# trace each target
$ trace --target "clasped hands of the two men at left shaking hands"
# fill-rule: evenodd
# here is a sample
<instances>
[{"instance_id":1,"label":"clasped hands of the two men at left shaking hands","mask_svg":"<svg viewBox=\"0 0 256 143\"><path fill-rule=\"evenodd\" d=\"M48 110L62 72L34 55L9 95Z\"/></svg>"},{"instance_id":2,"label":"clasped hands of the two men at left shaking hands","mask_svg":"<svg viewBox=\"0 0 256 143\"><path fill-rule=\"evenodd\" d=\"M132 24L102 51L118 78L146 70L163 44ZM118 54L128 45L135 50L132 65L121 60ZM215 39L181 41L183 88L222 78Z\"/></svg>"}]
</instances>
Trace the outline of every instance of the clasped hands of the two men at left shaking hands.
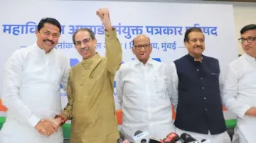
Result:
<instances>
[{"instance_id":1,"label":"clasped hands of the two men at left shaking hands","mask_svg":"<svg viewBox=\"0 0 256 143\"><path fill-rule=\"evenodd\" d=\"M50 136L58 131L58 127L62 125L63 122L65 122L65 120L60 117L55 119L43 119L38 122L35 128L41 135Z\"/></svg>"}]
</instances>

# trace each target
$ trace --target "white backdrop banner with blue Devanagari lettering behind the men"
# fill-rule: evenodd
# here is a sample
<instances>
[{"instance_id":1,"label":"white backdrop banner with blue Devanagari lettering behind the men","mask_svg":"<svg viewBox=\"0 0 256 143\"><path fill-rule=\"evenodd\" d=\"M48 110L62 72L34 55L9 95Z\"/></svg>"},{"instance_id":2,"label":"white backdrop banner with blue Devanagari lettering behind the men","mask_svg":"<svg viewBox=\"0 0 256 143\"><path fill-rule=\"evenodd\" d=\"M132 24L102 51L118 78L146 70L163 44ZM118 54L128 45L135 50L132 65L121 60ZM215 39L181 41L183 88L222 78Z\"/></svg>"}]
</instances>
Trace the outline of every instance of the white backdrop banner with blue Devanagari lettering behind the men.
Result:
<instances>
[{"instance_id":1,"label":"white backdrop banner with blue Devanagari lettering behind the men","mask_svg":"<svg viewBox=\"0 0 256 143\"><path fill-rule=\"evenodd\" d=\"M98 41L97 52L105 56L104 27L95 14L95 11L102 7L110 8L112 25L117 28L117 36L122 43L123 62L134 58L131 50L132 39L136 35L145 34L151 38L154 48L151 57L159 62L170 64L188 53L183 45L183 37L186 28L193 26L202 28L206 36L204 55L219 59L222 71L229 62L238 57L232 5L114 1L34 1L29 3L5 1L0 6L1 79L2 69L11 53L36 42L36 25L41 18L45 17L60 21L63 33L55 49L60 50L70 59L72 67L81 59L72 43L72 35L78 28L92 28L95 31ZM0 87L2 84L4 83L1 83ZM67 103L65 91L62 90L60 96L64 107ZM117 93L113 96L116 109L119 110ZM0 111L0 116L4 116L6 108L0 105ZM224 112L226 120L234 118L232 113ZM119 123L122 124L122 122Z\"/></svg>"}]
</instances>

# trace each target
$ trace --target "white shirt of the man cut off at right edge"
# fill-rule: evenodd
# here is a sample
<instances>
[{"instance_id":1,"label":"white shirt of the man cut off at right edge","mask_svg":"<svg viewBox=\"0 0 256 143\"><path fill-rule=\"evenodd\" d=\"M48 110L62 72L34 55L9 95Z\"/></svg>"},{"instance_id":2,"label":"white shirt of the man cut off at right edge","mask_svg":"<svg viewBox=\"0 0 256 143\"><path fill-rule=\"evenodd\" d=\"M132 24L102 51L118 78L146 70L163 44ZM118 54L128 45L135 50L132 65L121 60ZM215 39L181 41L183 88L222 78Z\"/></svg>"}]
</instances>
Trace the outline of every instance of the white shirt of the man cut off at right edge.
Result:
<instances>
[{"instance_id":1,"label":"white shirt of the man cut off at right edge","mask_svg":"<svg viewBox=\"0 0 256 143\"><path fill-rule=\"evenodd\" d=\"M256 60L242 55L228 66L223 81L223 104L237 115L237 127L247 142L256 142L256 118L245 115L256 107Z\"/></svg>"}]
</instances>

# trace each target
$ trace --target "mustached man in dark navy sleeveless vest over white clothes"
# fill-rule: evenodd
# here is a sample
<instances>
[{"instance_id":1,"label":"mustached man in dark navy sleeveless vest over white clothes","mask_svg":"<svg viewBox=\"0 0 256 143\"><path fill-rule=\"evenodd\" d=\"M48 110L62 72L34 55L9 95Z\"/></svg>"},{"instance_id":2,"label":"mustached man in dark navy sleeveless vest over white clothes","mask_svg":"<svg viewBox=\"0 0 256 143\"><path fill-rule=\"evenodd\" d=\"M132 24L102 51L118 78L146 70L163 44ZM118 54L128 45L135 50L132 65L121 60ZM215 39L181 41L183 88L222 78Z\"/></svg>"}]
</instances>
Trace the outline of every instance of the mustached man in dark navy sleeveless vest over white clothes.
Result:
<instances>
[{"instance_id":1,"label":"mustached man in dark navy sleeveless vest over white clothes","mask_svg":"<svg viewBox=\"0 0 256 143\"><path fill-rule=\"evenodd\" d=\"M213 143L230 143L225 131L220 98L218 59L203 55L205 36L201 28L186 30L184 44L188 55L174 61L174 93L178 94L176 133Z\"/></svg>"}]
</instances>

